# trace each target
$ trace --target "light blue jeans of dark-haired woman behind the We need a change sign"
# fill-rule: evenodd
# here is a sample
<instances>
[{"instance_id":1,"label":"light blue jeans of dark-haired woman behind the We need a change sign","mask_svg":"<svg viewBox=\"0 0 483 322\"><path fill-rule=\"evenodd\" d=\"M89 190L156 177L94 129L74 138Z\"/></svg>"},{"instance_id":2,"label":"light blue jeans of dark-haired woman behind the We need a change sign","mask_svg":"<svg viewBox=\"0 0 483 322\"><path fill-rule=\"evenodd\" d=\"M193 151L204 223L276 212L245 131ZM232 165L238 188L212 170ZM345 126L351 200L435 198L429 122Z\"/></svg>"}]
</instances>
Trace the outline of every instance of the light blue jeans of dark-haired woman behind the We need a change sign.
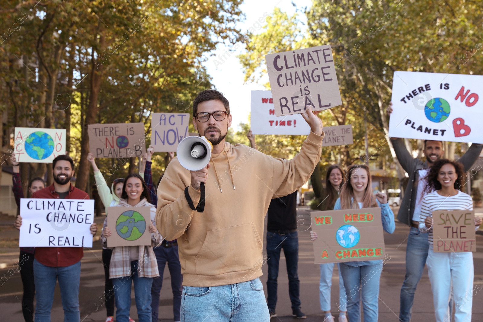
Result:
<instances>
[{"instance_id":1,"label":"light blue jeans of dark-haired woman behind the We need a change sign","mask_svg":"<svg viewBox=\"0 0 483 322\"><path fill-rule=\"evenodd\" d=\"M319 300L322 311L330 311L330 289L332 287L332 272L335 263L320 264ZM345 294L344 280L341 274L341 264L339 268L339 311L347 311L347 296Z\"/></svg>"}]
</instances>

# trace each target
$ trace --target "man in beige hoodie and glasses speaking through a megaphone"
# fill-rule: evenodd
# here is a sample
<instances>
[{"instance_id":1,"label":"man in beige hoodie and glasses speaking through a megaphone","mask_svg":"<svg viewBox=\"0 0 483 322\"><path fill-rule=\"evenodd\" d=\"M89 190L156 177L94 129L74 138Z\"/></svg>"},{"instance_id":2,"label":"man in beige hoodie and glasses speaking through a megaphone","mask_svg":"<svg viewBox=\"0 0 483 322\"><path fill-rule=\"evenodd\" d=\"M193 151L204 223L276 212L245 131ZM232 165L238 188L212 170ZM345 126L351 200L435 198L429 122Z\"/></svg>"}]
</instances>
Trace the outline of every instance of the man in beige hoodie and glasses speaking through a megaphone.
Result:
<instances>
[{"instance_id":1,"label":"man in beige hoodie and glasses speaking through a megaphone","mask_svg":"<svg viewBox=\"0 0 483 322\"><path fill-rule=\"evenodd\" d=\"M225 142L231 114L222 93L209 89L195 98L193 125L213 150L210 154L211 146L202 138L185 139L187 148L178 148L157 190L156 227L167 240L178 239L181 321L270 320L259 279L266 260L264 217L272 198L309 180L324 139L316 112L308 108L302 116L311 133L300 153L291 160L276 159ZM204 150L206 155L197 159ZM292 310L298 316L300 308Z\"/></svg>"}]
</instances>

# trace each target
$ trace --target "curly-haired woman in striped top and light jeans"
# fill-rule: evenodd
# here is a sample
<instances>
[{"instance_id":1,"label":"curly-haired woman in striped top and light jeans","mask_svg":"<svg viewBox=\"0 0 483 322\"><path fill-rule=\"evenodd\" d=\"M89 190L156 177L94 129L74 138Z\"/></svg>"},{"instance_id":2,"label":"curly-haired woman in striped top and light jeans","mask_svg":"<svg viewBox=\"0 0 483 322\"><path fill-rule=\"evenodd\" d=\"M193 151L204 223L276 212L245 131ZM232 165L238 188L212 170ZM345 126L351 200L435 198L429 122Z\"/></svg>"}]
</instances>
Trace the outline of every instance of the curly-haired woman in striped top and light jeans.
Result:
<instances>
[{"instance_id":1,"label":"curly-haired woman in striped top and light jeans","mask_svg":"<svg viewBox=\"0 0 483 322\"><path fill-rule=\"evenodd\" d=\"M473 295L473 253L433 252L434 210L473 210L471 196L460 191L463 166L456 161L437 161L426 176L426 196L423 198L419 230L427 232L429 250L426 260L437 322L450 321L451 285L455 299L455 322L471 321ZM475 229L482 223L475 218Z\"/></svg>"}]
</instances>

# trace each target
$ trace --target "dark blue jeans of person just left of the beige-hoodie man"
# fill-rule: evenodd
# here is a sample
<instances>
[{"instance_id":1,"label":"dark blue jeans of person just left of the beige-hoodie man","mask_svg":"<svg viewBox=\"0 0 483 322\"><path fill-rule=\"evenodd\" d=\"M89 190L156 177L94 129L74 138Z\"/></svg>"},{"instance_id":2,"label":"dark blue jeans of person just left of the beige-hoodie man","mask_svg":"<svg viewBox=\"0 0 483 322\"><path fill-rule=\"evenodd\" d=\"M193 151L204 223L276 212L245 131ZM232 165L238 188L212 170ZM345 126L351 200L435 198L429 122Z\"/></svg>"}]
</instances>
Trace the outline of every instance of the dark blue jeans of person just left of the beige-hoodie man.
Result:
<instances>
[{"instance_id":1,"label":"dark blue jeans of person just left of the beige-hoodie man","mask_svg":"<svg viewBox=\"0 0 483 322\"><path fill-rule=\"evenodd\" d=\"M164 246L153 247L156 255L157 268L159 270L159 278L153 280L151 286L151 311L153 313L153 321L157 321L159 313L159 293L163 287L163 273L166 262L171 275L171 289L173 291L173 315L174 321L180 321L181 294L183 293L183 275L181 274L181 264L178 254L178 246L166 248Z\"/></svg>"}]
</instances>

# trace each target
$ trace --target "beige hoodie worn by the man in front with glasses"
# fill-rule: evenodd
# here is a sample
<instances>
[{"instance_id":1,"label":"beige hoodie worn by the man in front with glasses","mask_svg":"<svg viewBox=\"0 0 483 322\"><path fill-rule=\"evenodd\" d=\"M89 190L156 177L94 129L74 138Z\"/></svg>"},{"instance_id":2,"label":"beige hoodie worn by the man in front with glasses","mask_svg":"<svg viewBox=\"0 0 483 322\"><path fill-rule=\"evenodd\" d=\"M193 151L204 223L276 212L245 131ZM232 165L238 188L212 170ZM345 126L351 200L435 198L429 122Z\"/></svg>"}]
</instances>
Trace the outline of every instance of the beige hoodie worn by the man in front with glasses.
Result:
<instances>
[{"instance_id":1,"label":"beige hoodie worn by the man in front with glasses","mask_svg":"<svg viewBox=\"0 0 483 322\"><path fill-rule=\"evenodd\" d=\"M225 142L221 154L212 154L204 212L191 210L186 201L188 186L195 207L200 198L190 171L177 157L170 162L157 189L156 227L166 240L178 238L183 285L227 285L262 275L263 221L270 200L309 180L323 139L324 134L311 132L292 160Z\"/></svg>"}]
</instances>

